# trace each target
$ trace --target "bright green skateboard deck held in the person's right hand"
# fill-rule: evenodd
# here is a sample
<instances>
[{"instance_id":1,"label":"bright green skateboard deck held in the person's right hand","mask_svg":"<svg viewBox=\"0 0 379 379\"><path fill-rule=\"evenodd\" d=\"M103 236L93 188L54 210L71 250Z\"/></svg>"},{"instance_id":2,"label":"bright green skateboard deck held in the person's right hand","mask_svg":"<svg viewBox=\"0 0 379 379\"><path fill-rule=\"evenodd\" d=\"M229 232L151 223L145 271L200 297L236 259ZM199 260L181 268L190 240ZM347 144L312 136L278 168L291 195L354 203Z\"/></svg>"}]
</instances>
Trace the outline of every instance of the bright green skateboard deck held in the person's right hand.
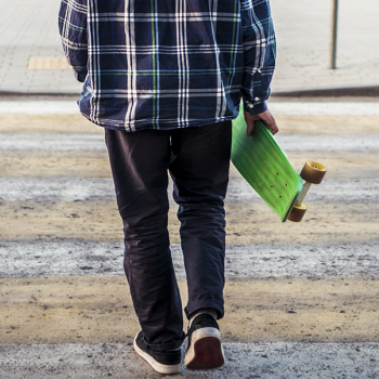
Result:
<instances>
[{"instance_id":1,"label":"bright green skateboard deck held in the person's right hand","mask_svg":"<svg viewBox=\"0 0 379 379\"><path fill-rule=\"evenodd\" d=\"M253 134L246 136L243 109L233 120L231 159L258 195L285 222L303 181L263 122L256 121Z\"/></svg>"}]
</instances>

